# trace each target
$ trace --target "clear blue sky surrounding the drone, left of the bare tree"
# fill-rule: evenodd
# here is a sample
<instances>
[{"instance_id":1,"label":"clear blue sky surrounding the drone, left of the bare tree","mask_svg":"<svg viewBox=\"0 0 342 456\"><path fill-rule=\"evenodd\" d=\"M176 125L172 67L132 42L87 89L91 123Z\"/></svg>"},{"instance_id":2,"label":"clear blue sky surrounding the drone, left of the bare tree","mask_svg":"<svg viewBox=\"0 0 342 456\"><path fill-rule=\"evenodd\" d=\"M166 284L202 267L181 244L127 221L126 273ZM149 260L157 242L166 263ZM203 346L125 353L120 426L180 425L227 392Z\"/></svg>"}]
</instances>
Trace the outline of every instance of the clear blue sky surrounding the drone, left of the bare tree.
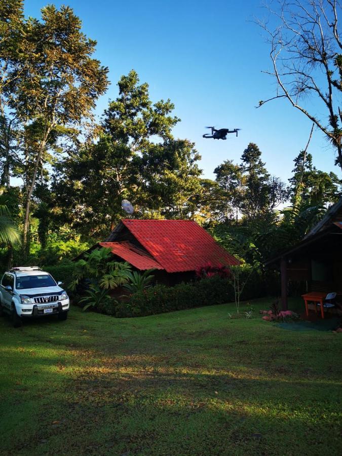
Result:
<instances>
[{"instance_id":1,"label":"clear blue sky surrounding the drone, left of the bare tree","mask_svg":"<svg viewBox=\"0 0 342 456\"><path fill-rule=\"evenodd\" d=\"M26 0L25 14L40 17L43 0ZM224 160L240 163L255 142L269 172L287 181L293 159L304 148L311 122L285 100L255 109L274 95L275 84L261 73L270 68L269 47L253 22L265 17L259 0L65 0L83 21L83 31L97 40L96 57L109 68L111 85L99 101L101 115L118 95L117 82L134 68L147 82L153 101L170 98L181 119L174 134L196 143L207 178ZM318 107L317 107L318 109ZM204 126L241 128L237 138L204 139ZM309 151L314 164L334 171L334 152L315 130Z\"/></svg>"}]
</instances>

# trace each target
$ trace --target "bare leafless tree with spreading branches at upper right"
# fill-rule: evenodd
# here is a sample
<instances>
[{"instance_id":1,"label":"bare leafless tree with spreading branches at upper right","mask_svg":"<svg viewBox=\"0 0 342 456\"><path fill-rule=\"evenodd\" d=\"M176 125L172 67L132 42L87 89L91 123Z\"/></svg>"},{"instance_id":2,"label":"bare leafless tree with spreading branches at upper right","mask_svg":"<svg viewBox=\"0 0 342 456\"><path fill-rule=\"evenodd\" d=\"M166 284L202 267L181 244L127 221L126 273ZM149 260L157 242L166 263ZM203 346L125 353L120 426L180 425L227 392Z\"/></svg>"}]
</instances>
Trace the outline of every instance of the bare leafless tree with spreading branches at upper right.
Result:
<instances>
[{"instance_id":1,"label":"bare leafless tree with spreading branches at upper right","mask_svg":"<svg viewBox=\"0 0 342 456\"><path fill-rule=\"evenodd\" d=\"M326 135L342 169L340 4L337 0L281 0L277 10L270 7L269 11L277 26L271 29L268 22L258 24L270 43L273 69L265 72L275 78L278 90L275 96L260 100L259 106L277 98L287 99ZM307 102L309 96L313 105ZM325 112L322 118L316 114L320 110Z\"/></svg>"}]
</instances>

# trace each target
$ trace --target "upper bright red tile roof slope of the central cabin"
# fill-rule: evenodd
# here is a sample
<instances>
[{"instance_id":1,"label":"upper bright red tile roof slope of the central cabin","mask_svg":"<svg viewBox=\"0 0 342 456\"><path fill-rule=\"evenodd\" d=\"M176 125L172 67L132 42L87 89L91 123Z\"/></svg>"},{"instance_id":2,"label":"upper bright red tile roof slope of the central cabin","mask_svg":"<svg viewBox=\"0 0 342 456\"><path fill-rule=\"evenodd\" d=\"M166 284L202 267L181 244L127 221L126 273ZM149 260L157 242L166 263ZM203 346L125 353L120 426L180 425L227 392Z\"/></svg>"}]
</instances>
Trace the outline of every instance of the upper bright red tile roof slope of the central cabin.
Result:
<instances>
[{"instance_id":1,"label":"upper bright red tile roof slope of the central cabin","mask_svg":"<svg viewBox=\"0 0 342 456\"><path fill-rule=\"evenodd\" d=\"M169 273L195 271L207 262L213 266L239 264L192 220L123 219L122 222Z\"/></svg>"}]
</instances>

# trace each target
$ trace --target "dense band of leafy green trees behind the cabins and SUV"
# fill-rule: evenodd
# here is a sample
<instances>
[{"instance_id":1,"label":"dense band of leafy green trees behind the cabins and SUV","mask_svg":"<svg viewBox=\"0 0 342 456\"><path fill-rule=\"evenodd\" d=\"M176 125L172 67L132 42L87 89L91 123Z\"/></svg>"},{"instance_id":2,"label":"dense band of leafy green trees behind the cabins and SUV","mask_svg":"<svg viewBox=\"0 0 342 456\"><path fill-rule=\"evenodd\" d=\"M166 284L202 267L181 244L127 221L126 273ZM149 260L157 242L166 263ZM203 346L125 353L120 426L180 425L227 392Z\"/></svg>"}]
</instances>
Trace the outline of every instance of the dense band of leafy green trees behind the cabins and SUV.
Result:
<instances>
[{"instance_id":1,"label":"dense band of leafy green trees behind the cabins and SUV","mask_svg":"<svg viewBox=\"0 0 342 456\"><path fill-rule=\"evenodd\" d=\"M135 70L95 122L108 86L95 50L67 6L47 6L34 19L22 0L0 5L2 269L67 264L107 236L129 199L137 218L196 220L264 274L265 259L301 239L340 198L341 180L316 169L308 146L292 151L288 184L269 173L253 142L240 163L213 165L215 179L202 178L195 144L173 136L173 103L151 100ZM105 280L110 288L114 279Z\"/></svg>"}]
</instances>

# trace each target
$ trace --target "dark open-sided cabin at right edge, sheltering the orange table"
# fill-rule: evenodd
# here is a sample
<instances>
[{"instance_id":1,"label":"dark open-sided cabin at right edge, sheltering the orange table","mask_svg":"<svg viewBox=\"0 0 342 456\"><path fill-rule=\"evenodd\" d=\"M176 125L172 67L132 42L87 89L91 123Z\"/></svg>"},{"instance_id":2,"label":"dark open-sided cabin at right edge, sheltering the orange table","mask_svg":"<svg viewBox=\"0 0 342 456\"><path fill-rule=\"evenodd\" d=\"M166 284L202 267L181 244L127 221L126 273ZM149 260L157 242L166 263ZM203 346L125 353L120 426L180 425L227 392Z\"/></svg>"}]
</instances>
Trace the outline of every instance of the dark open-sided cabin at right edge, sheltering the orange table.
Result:
<instances>
[{"instance_id":1,"label":"dark open-sided cabin at right edge, sheltering the orange table","mask_svg":"<svg viewBox=\"0 0 342 456\"><path fill-rule=\"evenodd\" d=\"M321 291L342 293L342 198L295 246L268 260L280 268L283 309L287 309L288 285L298 294Z\"/></svg>"}]
</instances>

